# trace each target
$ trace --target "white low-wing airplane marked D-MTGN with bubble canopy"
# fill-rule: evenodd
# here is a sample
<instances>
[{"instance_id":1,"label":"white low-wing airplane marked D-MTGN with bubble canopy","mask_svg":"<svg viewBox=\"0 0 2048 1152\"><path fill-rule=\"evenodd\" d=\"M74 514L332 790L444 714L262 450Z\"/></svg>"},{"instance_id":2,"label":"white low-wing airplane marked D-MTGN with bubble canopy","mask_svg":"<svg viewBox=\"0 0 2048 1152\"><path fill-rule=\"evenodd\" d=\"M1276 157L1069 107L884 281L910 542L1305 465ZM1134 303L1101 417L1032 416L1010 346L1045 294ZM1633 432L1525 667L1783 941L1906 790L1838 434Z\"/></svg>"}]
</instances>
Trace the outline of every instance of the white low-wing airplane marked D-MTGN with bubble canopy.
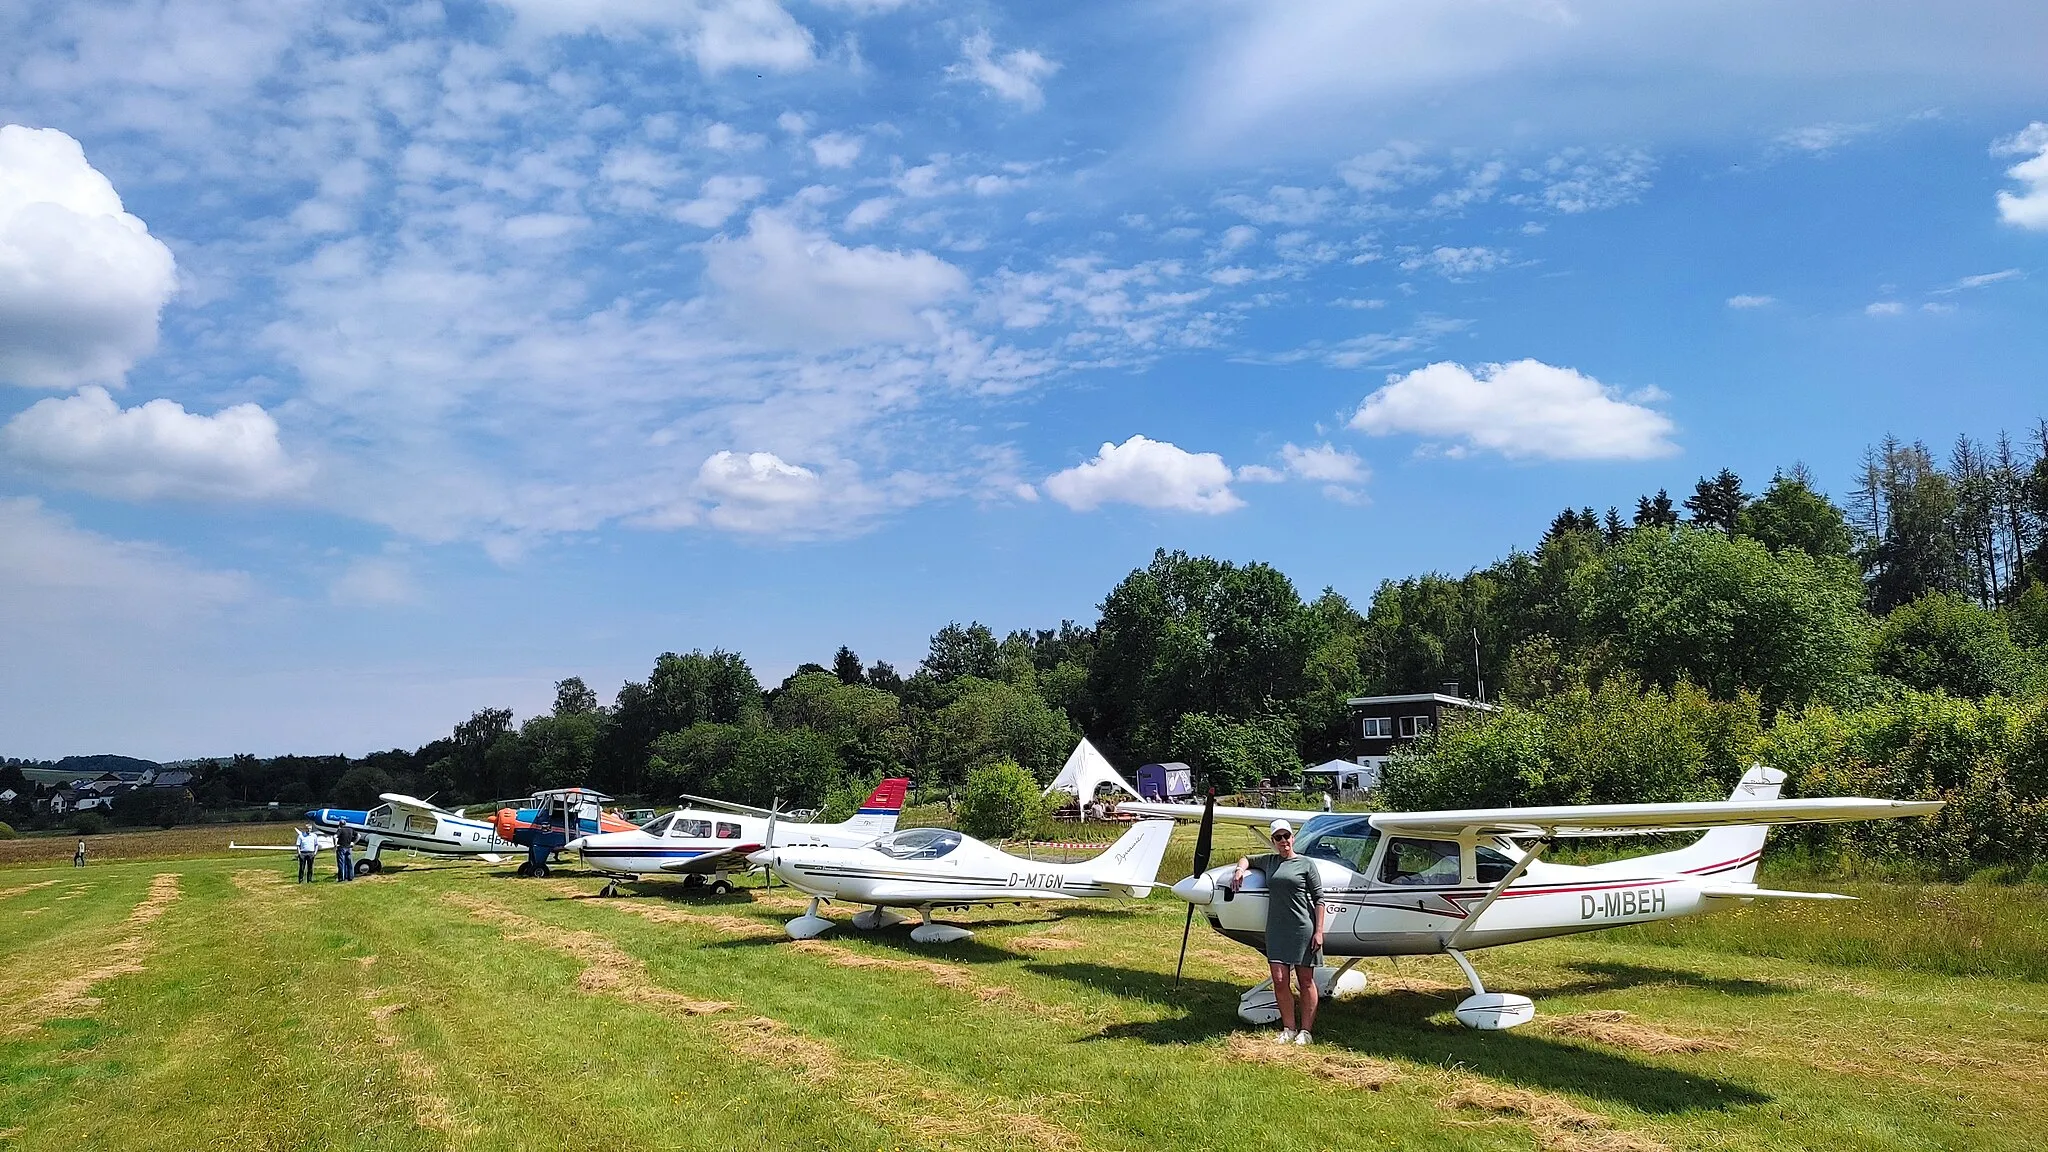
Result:
<instances>
[{"instance_id":1,"label":"white low-wing airplane marked D-MTGN with bubble canopy","mask_svg":"<svg viewBox=\"0 0 2048 1152\"><path fill-rule=\"evenodd\" d=\"M1069 865L1014 857L952 828L905 828L860 849L772 847L748 857L811 896L811 908L786 924L807 941L834 927L817 914L823 900L868 904L856 929L901 922L889 908L918 908L918 943L965 941L973 933L932 922L934 908L1128 896L1145 900L1159 877L1171 820L1145 820L1092 861Z\"/></svg>"}]
</instances>

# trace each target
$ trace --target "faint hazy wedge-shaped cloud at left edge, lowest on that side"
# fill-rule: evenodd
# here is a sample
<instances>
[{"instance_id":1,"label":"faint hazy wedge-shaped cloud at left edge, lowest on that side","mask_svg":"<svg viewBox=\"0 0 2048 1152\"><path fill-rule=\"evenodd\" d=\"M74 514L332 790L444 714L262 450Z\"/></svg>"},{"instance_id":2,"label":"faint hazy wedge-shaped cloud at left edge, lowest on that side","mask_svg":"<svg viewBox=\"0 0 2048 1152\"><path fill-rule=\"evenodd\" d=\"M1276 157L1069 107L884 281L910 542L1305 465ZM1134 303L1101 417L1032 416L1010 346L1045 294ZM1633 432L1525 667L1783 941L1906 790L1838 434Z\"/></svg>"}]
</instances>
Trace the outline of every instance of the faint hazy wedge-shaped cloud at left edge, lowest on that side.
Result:
<instances>
[{"instance_id":1,"label":"faint hazy wedge-shaped cloud at left edge, lowest on that side","mask_svg":"<svg viewBox=\"0 0 2048 1152\"><path fill-rule=\"evenodd\" d=\"M250 594L240 572L80 529L39 500L0 496L0 633L70 621L162 625Z\"/></svg>"}]
</instances>

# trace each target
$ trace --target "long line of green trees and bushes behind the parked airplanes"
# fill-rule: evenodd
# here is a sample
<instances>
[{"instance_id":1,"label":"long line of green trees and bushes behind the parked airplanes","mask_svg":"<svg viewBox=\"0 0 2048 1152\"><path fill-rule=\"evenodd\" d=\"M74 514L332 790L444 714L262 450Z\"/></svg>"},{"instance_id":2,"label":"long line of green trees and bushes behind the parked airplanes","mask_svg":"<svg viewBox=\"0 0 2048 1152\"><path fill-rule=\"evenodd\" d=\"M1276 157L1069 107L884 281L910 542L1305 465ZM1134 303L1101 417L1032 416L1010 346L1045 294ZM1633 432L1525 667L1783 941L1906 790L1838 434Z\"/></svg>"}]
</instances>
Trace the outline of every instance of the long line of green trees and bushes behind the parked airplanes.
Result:
<instances>
[{"instance_id":1,"label":"long line of green trees and bushes behind the parked airplanes","mask_svg":"<svg viewBox=\"0 0 2048 1152\"><path fill-rule=\"evenodd\" d=\"M1384 580L1362 611L1270 564L1161 549L1094 623L948 623L907 674L840 648L770 687L737 652L666 652L610 701L567 678L522 722L479 709L416 750L233 756L195 795L473 804L586 783L844 808L883 775L932 793L1014 763L1047 781L1081 734L1126 771L1186 760L1231 791L1343 754L1350 697L1448 681L1505 707L1407 750L1391 804L1724 795L1761 756L1804 789L1976 789L1944 859L2021 853L2048 781L2028 760L2048 748L2048 422L1946 461L1886 439L1843 504L1794 465L1759 492L1720 469L1628 515L1565 508L1532 549Z\"/></svg>"}]
</instances>

